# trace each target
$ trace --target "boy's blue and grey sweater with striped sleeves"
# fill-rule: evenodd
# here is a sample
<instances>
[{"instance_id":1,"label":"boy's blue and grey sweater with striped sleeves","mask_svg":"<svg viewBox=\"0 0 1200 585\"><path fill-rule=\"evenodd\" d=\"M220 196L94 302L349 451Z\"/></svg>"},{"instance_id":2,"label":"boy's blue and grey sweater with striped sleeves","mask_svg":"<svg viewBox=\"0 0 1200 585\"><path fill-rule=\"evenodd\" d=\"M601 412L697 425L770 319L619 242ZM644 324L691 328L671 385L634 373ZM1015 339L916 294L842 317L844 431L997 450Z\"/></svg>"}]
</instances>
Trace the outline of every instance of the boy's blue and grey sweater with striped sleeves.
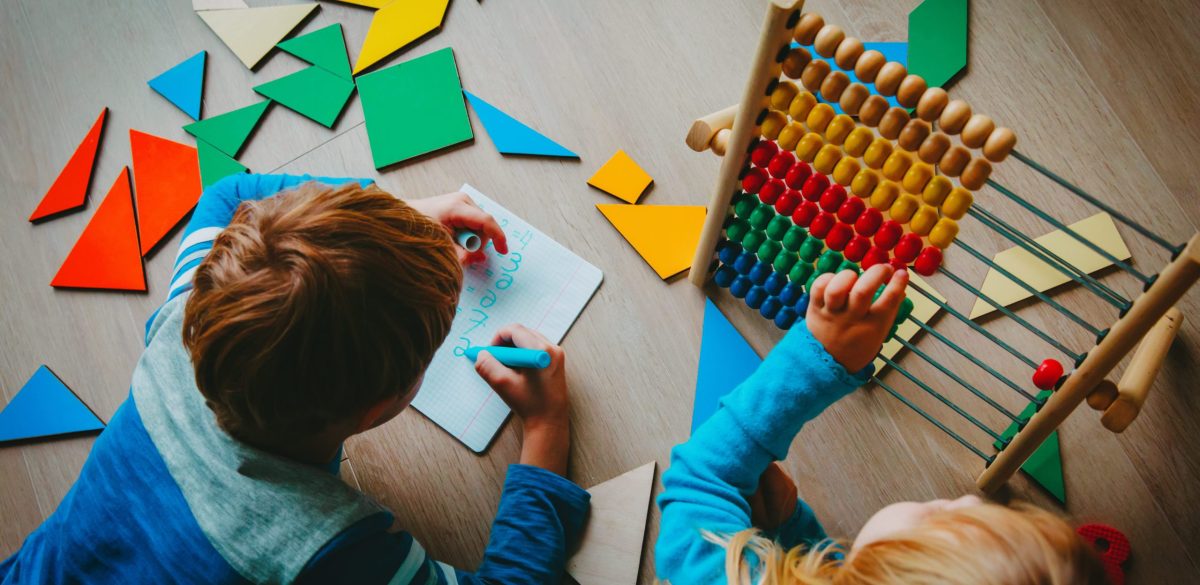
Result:
<instances>
[{"instance_id":1,"label":"boy's blue and grey sweater with striped sleeves","mask_svg":"<svg viewBox=\"0 0 1200 585\"><path fill-rule=\"evenodd\" d=\"M216 426L180 343L192 273L241 201L310 180L235 175L204 192L168 301L148 322L130 398L59 508L0 562L0 584L562 579L588 494L560 476L509 468L482 563L467 573L433 561L412 535L391 532L390 512L331 475L336 460L328 468L290 462Z\"/></svg>"}]
</instances>

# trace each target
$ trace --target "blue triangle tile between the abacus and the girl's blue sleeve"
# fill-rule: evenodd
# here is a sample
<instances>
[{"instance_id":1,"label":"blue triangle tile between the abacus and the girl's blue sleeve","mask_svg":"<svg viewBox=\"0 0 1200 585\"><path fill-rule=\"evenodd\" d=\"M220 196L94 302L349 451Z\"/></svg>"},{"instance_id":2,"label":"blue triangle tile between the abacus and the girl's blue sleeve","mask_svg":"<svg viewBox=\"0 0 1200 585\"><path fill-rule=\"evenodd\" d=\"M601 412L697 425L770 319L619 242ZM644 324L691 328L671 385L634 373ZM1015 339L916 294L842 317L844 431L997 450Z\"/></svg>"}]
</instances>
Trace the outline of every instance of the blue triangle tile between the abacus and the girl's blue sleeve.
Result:
<instances>
[{"instance_id":1,"label":"blue triangle tile between the abacus and the girl's blue sleeve","mask_svg":"<svg viewBox=\"0 0 1200 585\"><path fill-rule=\"evenodd\" d=\"M691 408L691 432L716 412L721 397L750 378L762 358L733 328L721 310L706 300L704 332L700 339L700 367L696 370L696 402Z\"/></svg>"}]
</instances>

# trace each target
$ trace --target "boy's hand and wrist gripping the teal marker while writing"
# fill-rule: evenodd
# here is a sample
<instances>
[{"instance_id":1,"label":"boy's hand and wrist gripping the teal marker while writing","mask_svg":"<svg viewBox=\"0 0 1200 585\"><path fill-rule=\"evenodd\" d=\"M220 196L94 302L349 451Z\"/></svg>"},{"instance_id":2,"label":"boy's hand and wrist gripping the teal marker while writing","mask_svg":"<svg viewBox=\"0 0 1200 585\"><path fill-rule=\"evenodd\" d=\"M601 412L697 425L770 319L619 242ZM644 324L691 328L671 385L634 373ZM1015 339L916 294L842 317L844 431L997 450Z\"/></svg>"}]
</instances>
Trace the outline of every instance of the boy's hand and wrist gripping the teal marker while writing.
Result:
<instances>
[{"instance_id":1,"label":"boy's hand and wrist gripping the teal marker while writing","mask_svg":"<svg viewBox=\"0 0 1200 585\"><path fill-rule=\"evenodd\" d=\"M522 325L502 327L491 345L540 349L550 354L544 369L509 368L487 351L475 358L475 372L524 423L521 463L566 475L571 423L568 416L566 364L563 349Z\"/></svg>"}]
</instances>

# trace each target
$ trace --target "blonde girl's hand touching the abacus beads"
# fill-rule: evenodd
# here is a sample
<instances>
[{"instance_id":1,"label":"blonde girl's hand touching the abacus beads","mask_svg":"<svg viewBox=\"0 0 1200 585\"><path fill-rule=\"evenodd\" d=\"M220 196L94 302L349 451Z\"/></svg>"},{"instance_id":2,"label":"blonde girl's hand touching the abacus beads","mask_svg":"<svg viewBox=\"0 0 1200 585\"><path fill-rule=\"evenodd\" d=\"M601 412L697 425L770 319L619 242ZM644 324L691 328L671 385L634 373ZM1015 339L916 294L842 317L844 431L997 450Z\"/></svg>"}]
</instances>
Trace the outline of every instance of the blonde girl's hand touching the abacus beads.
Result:
<instances>
[{"instance_id":1,"label":"blonde girl's hand touching the abacus beads","mask_svg":"<svg viewBox=\"0 0 1200 585\"><path fill-rule=\"evenodd\" d=\"M883 294L872 298L887 282ZM852 270L821 275L809 292L805 316L826 351L847 372L854 373L875 360L904 301L908 271L876 264L858 276Z\"/></svg>"}]
</instances>

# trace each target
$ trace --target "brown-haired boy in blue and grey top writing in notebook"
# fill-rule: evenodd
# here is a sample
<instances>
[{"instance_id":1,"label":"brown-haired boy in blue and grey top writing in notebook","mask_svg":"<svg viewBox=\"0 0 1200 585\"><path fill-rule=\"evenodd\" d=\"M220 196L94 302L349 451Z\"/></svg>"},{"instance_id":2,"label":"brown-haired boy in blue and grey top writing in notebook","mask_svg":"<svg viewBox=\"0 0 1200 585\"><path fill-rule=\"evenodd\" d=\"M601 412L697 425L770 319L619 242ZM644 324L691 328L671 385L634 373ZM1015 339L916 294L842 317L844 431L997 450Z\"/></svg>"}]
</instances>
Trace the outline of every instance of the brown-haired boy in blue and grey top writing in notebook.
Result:
<instances>
[{"instance_id":1,"label":"brown-haired boy in blue and grey top writing in notebook","mask_svg":"<svg viewBox=\"0 0 1200 585\"><path fill-rule=\"evenodd\" d=\"M281 193L282 194L277 194ZM272 197L274 195L274 197ZM236 175L200 197L131 396L0 583L554 583L588 494L563 478L563 352L476 370L526 424L484 561L428 559L337 480L342 442L404 409L454 319L450 229L508 252L466 195L406 204L370 181Z\"/></svg>"}]
</instances>

